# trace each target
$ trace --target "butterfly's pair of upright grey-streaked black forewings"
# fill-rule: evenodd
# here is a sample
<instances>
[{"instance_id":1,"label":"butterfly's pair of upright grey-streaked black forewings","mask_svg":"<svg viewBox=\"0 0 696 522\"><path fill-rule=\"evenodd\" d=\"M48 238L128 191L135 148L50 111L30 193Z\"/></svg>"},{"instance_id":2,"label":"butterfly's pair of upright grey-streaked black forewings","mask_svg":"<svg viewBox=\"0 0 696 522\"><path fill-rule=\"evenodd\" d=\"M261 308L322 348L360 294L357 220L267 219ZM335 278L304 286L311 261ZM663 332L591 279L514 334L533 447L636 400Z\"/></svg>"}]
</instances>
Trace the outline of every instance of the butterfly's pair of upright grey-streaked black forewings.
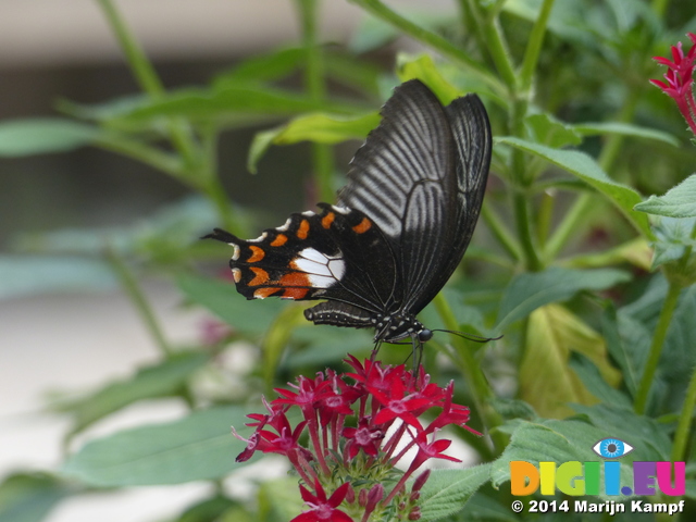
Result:
<instances>
[{"instance_id":1,"label":"butterfly's pair of upright grey-streaked black forewings","mask_svg":"<svg viewBox=\"0 0 696 522\"><path fill-rule=\"evenodd\" d=\"M398 308L415 314L469 244L488 172L490 130L475 96L446 110L419 80L397 87L382 116L351 162L339 204L362 211L387 236L405 293Z\"/></svg>"}]
</instances>

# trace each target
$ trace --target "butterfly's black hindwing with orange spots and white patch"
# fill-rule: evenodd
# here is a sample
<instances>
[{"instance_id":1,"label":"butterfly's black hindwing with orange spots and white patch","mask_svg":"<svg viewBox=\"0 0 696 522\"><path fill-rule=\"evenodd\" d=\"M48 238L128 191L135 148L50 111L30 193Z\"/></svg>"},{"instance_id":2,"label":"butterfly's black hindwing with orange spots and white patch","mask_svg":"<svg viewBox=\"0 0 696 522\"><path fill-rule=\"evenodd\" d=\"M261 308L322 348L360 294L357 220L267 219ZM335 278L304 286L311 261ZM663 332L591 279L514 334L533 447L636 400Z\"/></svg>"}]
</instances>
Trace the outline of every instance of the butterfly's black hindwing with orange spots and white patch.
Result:
<instances>
[{"instance_id":1,"label":"butterfly's black hindwing with orange spots and white patch","mask_svg":"<svg viewBox=\"0 0 696 522\"><path fill-rule=\"evenodd\" d=\"M362 212L320 207L320 214L294 213L283 226L265 229L257 239L240 239L221 229L207 237L234 247L229 265L237 290L247 299L331 299L335 310L315 307L308 319L370 326L389 300L400 300L394 295L396 260L390 246Z\"/></svg>"}]
</instances>

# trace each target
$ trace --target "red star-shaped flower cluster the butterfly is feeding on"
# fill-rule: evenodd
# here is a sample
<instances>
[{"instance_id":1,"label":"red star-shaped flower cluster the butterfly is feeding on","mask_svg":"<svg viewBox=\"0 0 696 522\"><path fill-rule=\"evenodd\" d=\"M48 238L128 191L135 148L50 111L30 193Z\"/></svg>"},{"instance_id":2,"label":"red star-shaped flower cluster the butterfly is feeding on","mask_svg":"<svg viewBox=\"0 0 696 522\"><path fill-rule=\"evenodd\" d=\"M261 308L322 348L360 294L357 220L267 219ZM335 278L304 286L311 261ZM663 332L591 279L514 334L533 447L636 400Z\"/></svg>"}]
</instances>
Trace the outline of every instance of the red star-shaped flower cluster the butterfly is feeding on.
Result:
<instances>
[{"instance_id":1,"label":"red star-shaped flower cluster the butterfly is feeding on","mask_svg":"<svg viewBox=\"0 0 696 522\"><path fill-rule=\"evenodd\" d=\"M257 450L289 459L310 508L291 522L368 522L381 520L386 510L399 520L418 520L419 492L430 472L417 477L410 493L407 480L428 459L460 462L443 453L451 440L435 439L436 432L456 424L481 434L465 425L469 408L452 402L453 383L446 388L431 383L422 366L414 375L403 364L383 366L371 360L363 364L352 356L346 362L353 372L338 375L326 370L313 380L298 377L298 384L290 385L294 389L276 388L279 397L270 405L264 400L269 414L248 415L254 422L247 425L256 432L243 439L247 448L237 461L248 460ZM303 418L295 427L286 417L293 406ZM431 408L442 411L424 427L419 417ZM234 428L233 433L241 438ZM307 447L300 444L304 433ZM398 476L394 467L411 448L418 448L417 456ZM389 493L383 485L387 480L396 482ZM327 489L333 492L330 496Z\"/></svg>"}]
</instances>

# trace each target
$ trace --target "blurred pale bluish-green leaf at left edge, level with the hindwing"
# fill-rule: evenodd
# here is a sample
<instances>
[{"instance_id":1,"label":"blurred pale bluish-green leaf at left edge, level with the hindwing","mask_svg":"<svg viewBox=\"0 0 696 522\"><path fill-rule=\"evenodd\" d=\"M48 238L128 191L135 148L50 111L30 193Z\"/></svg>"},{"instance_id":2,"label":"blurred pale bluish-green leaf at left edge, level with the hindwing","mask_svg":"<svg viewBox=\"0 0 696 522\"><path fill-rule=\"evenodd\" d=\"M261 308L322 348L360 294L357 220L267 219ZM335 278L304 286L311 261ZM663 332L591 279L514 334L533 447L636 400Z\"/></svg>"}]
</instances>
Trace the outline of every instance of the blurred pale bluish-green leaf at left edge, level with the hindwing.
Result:
<instances>
[{"instance_id":1,"label":"blurred pale bluish-green leaf at left edge, level with the hindwing","mask_svg":"<svg viewBox=\"0 0 696 522\"><path fill-rule=\"evenodd\" d=\"M116 287L109 265L77 257L0 256L0 299Z\"/></svg>"}]
</instances>

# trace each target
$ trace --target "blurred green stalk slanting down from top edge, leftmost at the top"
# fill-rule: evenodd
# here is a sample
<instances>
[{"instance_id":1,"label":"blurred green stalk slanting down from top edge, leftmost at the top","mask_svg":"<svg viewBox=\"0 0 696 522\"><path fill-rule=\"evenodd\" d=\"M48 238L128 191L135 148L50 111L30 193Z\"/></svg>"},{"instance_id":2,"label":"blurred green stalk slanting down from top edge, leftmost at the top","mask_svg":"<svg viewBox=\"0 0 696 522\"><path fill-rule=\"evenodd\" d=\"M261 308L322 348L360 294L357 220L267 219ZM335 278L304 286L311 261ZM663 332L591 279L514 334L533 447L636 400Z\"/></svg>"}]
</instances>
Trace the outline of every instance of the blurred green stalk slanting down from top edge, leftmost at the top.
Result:
<instances>
[{"instance_id":1,"label":"blurred green stalk slanting down from top edge, leftmost at the top","mask_svg":"<svg viewBox=\"0 0 696 522\"><path fill-rule=\"evenodd\" d=\"M111 26L121 50L133 72L133 75L140 85L140 88L152 98L160 98L165 90L157 75L154 67L147 59L142 48L133 37L125 21L114 7L112 0L97 0L104 12L107 22ZM172 142L189 165L196 164L196 145L194 144L188 129L182 122L170 120L167 127Z\"/></svg>"}]
</instances>

